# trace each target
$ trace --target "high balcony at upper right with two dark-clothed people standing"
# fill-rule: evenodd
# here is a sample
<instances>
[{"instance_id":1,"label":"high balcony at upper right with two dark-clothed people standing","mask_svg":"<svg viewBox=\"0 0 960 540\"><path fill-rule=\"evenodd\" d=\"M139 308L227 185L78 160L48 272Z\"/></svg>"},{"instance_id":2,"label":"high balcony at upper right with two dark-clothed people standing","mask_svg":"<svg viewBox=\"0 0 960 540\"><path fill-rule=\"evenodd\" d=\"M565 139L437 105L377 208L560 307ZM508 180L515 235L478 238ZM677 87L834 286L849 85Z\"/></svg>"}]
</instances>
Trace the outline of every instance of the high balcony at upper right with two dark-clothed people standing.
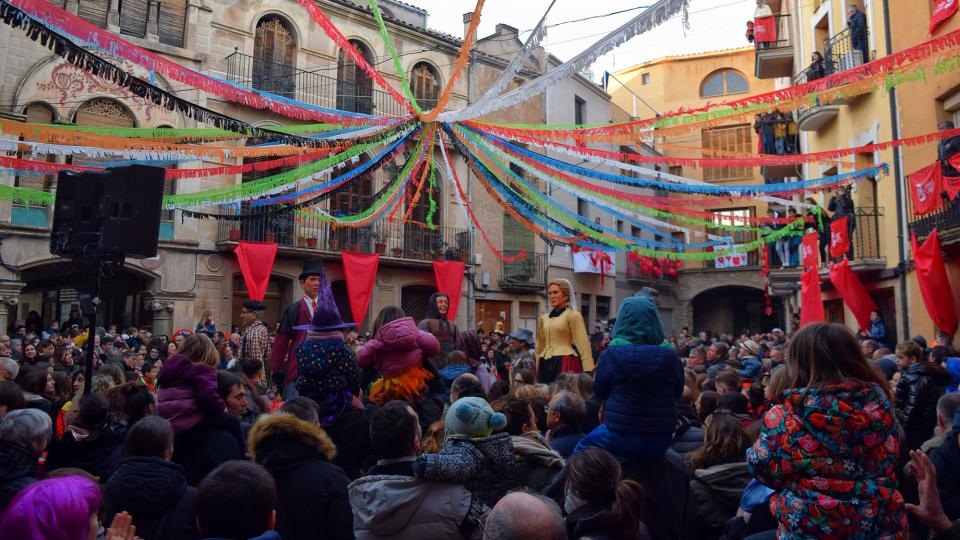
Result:
<instances>
[{"instance_id":1,"label":"high balcony at upper right with two dark-clothed people standing","mask_svg":"<svg viewBox=\"0 0 960 540\"><path fill-rule=\"evenodd\" d=\"M853 32L847 28L825 40L822 73L812 69L812 66L807 67L793 78L793 84L805 84L869 62L872 59L867 48L869 39L869 31ZM829 95L828 92L827 96ZM858 98L859 96L849 96L829 99L829 103L824 104L821 104L818 99L813 105L799 107L797 108L797 126L800 131L819 131L840 114L841 105L848 105Z\"/></svg>"}]
</instances>

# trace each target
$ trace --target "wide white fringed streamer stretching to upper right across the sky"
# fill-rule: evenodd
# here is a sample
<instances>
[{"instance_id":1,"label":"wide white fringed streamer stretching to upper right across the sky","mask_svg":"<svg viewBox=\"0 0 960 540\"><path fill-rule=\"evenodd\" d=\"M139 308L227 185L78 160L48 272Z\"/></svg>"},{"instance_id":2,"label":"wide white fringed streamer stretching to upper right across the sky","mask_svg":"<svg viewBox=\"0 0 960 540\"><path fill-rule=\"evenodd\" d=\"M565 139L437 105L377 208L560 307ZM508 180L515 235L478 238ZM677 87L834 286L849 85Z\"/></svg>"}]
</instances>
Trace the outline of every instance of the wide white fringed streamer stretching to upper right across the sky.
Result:
<instances>
[{"instance_id":1,"label":"wide white fringed streamer stretching to upper right across the sky","mask_svg":"<svg viewBox=\"0 0 960 540\"><path fill-rule=\"evenodd\" d=\"M573 57L573 59L561 64L557 69L503 94L498 99L490 100L483 107L475 107L475 110L470 114L461 114L460 116L462 116L462 118L458 118L458 120L469 120L525 103L530 98L546 92L548 88L557 82L572 77L590 67L597 58L623 45L630 39L663 24L667 19L681 11L686 12L689 1L690 0L660 0L643 13L630 19L626 24L607 34L600 39L600 41L597 41L585 51Z\"/></svg>"}]
</instances>

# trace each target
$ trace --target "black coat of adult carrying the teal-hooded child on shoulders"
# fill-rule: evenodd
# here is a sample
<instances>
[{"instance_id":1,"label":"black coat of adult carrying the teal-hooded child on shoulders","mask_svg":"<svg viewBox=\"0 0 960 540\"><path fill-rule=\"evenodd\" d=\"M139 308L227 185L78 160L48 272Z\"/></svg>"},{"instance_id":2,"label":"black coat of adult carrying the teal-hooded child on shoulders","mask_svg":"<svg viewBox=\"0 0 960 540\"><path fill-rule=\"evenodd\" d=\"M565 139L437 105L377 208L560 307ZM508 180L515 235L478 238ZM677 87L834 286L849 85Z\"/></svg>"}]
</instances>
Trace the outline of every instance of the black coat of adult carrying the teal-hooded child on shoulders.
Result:
<instances>
[{"instance_id":1,"label":"black coat of adult carrying the teal-hooded child on shoulders","mask_svg":"<svg viewBox=\"0 0 960 540\"><path fill-rule=\"evenodd\" d=\"M690 492L687 467L673 450L659 458L630 459L621 463L623 477L643 485L647 493L643 515L650 537L657 540L686 538L684 511Z\"/></svg>"}]
</instances>

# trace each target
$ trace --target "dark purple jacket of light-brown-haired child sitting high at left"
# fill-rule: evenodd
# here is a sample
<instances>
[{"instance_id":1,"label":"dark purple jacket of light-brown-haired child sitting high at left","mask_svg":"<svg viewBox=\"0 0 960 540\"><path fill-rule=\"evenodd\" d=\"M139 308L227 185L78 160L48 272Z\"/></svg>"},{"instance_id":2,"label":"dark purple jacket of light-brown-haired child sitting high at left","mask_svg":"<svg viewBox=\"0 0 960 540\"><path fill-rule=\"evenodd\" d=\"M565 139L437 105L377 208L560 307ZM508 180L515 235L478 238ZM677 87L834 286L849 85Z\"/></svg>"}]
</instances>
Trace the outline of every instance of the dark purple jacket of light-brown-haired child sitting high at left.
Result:
<instances>
[{"instance_id":1,"label":"dark purple jacket of light-brown-haired child sitting high at left","mask_svg":"<svg viewBox=\"0 0 960 540\"><path fill-rule=\"evenodd\" d=\"M177 354L164 362L157 384L157 414L170 422L174 433L183 433L226 407L217 394L216 370L186 356Z\"/></svg>"}]
</instances>

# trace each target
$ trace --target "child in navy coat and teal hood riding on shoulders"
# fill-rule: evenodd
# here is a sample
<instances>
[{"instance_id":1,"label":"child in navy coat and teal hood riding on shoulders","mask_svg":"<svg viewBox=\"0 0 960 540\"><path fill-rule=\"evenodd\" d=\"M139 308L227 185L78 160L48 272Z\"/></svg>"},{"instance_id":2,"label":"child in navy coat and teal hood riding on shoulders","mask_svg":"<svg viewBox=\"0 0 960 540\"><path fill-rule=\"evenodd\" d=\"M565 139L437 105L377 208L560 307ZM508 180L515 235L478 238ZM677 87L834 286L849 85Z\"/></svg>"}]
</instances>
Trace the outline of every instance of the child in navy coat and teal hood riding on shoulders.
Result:
<instances>
[{"instance_id":1,"label":"child in navy coat and teal hood riding on shoulders","mask_svg":"<svg viewBox=\"0 0 960 540\"><path fill-rule=\"evenodd\" d=\"M576 451L599 447L620 457L659 457L673 442L683 365L663 347L663 325L648 296L624 300L613 341L600 356L593 394L604 403L603 423Z\"/></svg>"}]
</instances>

